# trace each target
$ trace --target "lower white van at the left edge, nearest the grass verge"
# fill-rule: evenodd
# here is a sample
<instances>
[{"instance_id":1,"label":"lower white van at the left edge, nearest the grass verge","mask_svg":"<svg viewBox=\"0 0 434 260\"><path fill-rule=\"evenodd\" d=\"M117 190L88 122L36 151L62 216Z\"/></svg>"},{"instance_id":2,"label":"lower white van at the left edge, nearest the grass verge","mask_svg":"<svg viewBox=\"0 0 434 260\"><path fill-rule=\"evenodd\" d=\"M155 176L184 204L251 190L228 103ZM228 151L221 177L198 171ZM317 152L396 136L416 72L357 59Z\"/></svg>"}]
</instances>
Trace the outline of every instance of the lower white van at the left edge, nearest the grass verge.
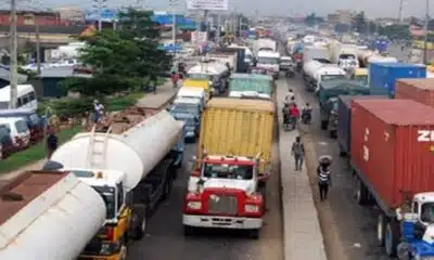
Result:
<instances>
[{"instance_id":1,"label":"lower white van at the left edge, nearest the grass verge","mask_svg":"<svg viewBox=\"0 0 434 260\"><path fill-rule=\"evenodd\" d=\"M26 120L21 117L0 117L0 126L8 128L14 146L28 147L30 130Z\"/></svg>"}]
</instances>

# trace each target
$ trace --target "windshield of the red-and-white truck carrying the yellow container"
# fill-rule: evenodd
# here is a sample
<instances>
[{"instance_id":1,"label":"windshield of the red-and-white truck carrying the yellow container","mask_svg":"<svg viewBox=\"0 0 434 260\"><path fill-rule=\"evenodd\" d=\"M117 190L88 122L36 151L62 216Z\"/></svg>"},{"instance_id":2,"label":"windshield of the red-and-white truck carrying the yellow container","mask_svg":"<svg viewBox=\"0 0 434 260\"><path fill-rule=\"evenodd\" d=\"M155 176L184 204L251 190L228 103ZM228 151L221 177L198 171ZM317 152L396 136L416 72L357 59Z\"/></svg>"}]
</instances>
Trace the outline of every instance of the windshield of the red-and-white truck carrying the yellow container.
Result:
<instances>
[{"instance_id":1,"label":"windshield of the red-and-white truck carrying the yellow container","mask_svg":"<svg viewBox=\"0 0 434 260\"><path fill-rule=\"evenodd\" d=\"M217 179L252 180L253 166L205 164L203 176Z\"/></svg>"}]
</instances>

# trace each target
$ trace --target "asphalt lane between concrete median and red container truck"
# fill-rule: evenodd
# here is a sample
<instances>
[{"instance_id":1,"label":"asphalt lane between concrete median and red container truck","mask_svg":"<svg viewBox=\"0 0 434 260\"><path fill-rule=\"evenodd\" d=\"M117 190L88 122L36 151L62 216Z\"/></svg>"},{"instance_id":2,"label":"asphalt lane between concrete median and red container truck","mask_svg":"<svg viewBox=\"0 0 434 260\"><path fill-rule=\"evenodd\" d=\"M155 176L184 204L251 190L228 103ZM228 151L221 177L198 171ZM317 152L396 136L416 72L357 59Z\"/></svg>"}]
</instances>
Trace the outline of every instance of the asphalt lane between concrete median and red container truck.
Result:
<instances>
[{"instance_id":1,"label":"asphalt lane between concrete median and red container truck","mask_svg":"<svg viewBox=\"0 0 434 260\"><path fill-rule=\"evenodd\" d=\"M307 152L309 176L311 178L314 196L324 235L328 257L332 260L385 260L376 240L376 211L374 208L361 207L355 200L354 179L347 161L339 156L339 145L328 133L320 130L318 100L304 90L303 80L297 75L290 79L296 99L309 102L314 107L312 123L303 126L302 132ZM327 202L320 203L316 191L315 167L320 155L332 155L333 186ZM309 167L310 165L310 167ZM314 168L314 170L312 170Z\"/></svg>"}]
</instances>

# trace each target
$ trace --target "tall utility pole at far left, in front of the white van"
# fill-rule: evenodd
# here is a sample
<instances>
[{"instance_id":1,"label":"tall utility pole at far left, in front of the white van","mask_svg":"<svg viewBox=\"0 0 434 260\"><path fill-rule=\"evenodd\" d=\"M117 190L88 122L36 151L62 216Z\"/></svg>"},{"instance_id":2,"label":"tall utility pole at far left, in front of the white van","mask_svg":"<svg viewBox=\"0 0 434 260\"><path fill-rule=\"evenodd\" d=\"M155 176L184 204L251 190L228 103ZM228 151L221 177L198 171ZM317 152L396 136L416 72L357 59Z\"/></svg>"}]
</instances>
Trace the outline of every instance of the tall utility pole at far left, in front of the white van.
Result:
<instances>
[{"instance_id":1,"label":"tall utility pole at far left, in front of the white van","mask_svg":"<svg viewBox=\"0 0 434 260\"><path fill-rule=\"evenodd\" d=\"M17 105L17 84L18 84L18 46L17 46L17 35L16 35L16 0L11 0L11 102L9 103L10 108L16 108Z\"/></svg>"}]
</instances>

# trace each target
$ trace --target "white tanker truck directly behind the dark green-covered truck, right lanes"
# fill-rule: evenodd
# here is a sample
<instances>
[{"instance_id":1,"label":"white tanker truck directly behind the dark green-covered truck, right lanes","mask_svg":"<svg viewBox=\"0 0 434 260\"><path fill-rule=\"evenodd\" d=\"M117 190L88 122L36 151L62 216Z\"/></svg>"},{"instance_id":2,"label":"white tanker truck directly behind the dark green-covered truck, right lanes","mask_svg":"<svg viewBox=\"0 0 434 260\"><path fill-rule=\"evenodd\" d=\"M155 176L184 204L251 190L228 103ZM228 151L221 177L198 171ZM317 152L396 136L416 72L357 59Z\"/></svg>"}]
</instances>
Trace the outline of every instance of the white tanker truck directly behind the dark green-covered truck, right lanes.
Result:
<instances>
[{"instance_id":1,"label":"white tanker truck directly behind the dark green-covered truck, right lanes","mask_svg":"<svg viewBox=\"0 0 434 260\"><path fill-rule=\"evenodd\" d=\"M334 64L309 61L303 65L303 78L306 91L316 91L323 80L344 79L346 72Z\"/></svg>"}]
</instances>

